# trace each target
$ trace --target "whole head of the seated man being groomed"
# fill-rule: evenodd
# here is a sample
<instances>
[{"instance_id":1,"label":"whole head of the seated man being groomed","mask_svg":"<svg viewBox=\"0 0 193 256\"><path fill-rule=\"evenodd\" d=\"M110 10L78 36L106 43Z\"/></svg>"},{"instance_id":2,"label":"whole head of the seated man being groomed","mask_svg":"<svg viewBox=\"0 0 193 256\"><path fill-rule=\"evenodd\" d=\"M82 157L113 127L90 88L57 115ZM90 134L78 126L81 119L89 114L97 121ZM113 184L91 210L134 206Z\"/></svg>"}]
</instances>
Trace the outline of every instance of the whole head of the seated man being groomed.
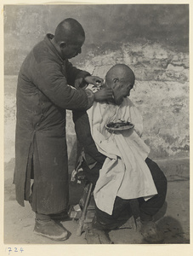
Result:
<instances>
[{"instance_id":1,"label":"whole head of the seated man being groomed","mask_svg":"<svg viewBox=\"0 0 193 256\"><path fill-rule=\"evenodd\" d=\"M105 83L112 88L116 105L120 105L124 97L130 96L134 80L133 71L125 64L116 64L106 73Z\"/></svg>"}]
</instances>

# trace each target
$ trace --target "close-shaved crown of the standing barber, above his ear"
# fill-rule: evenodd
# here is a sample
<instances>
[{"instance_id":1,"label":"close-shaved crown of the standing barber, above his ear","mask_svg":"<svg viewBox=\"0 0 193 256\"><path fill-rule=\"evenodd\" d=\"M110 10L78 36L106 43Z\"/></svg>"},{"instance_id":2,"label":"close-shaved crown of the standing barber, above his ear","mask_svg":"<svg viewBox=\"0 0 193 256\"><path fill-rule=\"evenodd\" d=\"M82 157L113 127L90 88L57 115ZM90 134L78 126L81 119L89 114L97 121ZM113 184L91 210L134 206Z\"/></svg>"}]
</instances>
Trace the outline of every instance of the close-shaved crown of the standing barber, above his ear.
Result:
<instances>
[{"instance_id":1,"label":"close-shaved crown of the standing barber, above his ear","mask_svg":"<svg viewBox=\"0 0 193 256\"><path fill-rule=\"evenodd\" d=\"M60 42L73 44L82 39L85 39L85 32L77 20L68 18L62 20L56 27L54 34L56 44L60 44Z\"/></svg>"}]
</instances>

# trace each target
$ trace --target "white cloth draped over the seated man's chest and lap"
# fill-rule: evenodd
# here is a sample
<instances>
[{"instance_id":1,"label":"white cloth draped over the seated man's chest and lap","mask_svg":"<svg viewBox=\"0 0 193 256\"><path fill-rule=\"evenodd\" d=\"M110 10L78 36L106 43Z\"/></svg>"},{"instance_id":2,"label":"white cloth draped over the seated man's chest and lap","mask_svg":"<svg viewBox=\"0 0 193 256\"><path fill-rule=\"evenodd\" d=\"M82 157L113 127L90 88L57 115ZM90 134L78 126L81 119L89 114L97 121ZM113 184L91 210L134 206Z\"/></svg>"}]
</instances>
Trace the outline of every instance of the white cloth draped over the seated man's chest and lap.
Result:
<instances>
[{"instance_id":1,"label":"white cloth draped over the seated man's chest and lap","mask_svg":"<svg viewBox=\"0 0 193 256\"><path fill-rule=\"evenodd\" d=\"M145 159L150 148L141 139L143 120L137 108L124 98L121 106L94 102L88 109L91 134L100 153L107 156L94 189L100 210L112 213L116 195L122 199L156 195L156 186ZM110 132L105 125L118 119L133 123L134 128Z\"/></svg>"}]
</instances>

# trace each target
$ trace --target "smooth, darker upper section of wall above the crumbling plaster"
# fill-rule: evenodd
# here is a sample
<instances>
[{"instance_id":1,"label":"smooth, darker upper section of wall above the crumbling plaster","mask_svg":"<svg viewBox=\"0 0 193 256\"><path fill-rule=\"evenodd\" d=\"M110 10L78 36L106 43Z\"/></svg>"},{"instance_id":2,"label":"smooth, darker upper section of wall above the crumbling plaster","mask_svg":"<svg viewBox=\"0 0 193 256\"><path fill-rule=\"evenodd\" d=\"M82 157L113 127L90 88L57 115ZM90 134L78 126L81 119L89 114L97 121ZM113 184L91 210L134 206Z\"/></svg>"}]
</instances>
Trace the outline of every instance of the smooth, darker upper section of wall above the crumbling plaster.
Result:
<instances>
[{"instance_id":1,"label":"smooth, darker upper section of wall above the crumbling plaster","mask_svg":"<svg viewBox=\"0 0 193 256\"><path fill-rule=\"evenodd\" d=\"M188 52L189 48L188 4L18 4L5 5L3 12L4 69L8 75L17 75L31 48L69 17L77 19L86 34L82 55L75 63L88 56L96 61L106 51L122 51L122 44L127 43L158 42L176 52Z\"/></svg>"}]
</instances>

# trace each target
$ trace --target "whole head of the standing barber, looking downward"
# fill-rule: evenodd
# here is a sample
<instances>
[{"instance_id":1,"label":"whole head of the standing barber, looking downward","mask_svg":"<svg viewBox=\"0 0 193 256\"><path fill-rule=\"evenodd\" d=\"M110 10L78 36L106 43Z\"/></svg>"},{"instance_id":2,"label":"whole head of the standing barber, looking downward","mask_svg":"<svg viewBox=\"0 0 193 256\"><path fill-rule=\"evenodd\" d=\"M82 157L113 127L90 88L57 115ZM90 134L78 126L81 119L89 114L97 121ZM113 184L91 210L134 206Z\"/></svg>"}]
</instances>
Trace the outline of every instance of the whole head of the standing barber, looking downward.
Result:
<instances>
[{"instance_id":1,"label":"whole head of the standing barber, looking downward","mask_svg":"<svg viewBox=\"0 0 193 256\"><path fill-rule=\"evenodd\" d=\"M56 27L54 44L63 59L71 59L80 54L84 41L85 33L77 20L68 18Z\"/></svg>"}]
</instances>

